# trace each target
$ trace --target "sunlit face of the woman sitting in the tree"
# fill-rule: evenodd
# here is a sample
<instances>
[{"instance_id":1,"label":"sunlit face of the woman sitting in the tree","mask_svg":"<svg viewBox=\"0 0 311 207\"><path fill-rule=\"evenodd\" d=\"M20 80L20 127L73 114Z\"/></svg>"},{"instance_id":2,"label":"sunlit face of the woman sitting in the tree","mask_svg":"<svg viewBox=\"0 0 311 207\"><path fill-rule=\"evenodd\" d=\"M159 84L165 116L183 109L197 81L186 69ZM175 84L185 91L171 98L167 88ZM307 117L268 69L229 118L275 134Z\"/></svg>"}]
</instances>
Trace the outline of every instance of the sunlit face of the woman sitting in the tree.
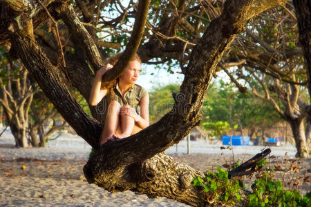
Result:
<instances>
[{"instance_id":1,"label":"sunlit face of the woman sitting in the tree","mask_svg":"<svg viewBox=\"0 0 311 207\"><path fill-rule=\"evenodd\" d=\"M140 77L140 62L137 60L130 61L125 72L120 77L120 81L125 84L134 84Z\"/></svg>"}]
</instances>

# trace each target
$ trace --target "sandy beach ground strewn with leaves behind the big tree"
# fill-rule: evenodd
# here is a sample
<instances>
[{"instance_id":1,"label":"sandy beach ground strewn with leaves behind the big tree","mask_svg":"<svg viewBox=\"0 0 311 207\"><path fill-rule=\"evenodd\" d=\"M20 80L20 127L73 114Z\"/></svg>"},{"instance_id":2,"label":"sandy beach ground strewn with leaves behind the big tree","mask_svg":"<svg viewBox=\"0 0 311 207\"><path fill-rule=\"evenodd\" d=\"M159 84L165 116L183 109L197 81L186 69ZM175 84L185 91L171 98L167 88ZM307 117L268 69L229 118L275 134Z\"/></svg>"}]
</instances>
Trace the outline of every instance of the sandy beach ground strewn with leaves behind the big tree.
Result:
<instances>
[{"instance_id":1,"label":"sandy beach ground strewn with leaves behind the big tree","mask_svg":"<svg viewBox=\"0 0 311 207\"><path fill-rule=\"evenodd\" d=\"M216 170L232 161L232 150L220 150L221 144L209 145L204 140L190 144L191 155L187 155L186 140L166 152L176 161L202 171ZM246 161L263 148L234 147L234 158ZM165 197L149 199L130 191L109 193L88 184L82 168L90 151L82 138L66 132L49 141L46 148L14 148L14 139L6 130L0 137L0 206L187 206ZM272 148L276 162L283 161L285 152L293 158L296 150L293 146ZM311 175L310 164L310 159L301 161L301 175ZM282 177L282 172L278 173ZM254 177L245 180L248 187L252 180ZM303 189L310 190L310 183L304 184Z\"/></svg>"}]
</instances>

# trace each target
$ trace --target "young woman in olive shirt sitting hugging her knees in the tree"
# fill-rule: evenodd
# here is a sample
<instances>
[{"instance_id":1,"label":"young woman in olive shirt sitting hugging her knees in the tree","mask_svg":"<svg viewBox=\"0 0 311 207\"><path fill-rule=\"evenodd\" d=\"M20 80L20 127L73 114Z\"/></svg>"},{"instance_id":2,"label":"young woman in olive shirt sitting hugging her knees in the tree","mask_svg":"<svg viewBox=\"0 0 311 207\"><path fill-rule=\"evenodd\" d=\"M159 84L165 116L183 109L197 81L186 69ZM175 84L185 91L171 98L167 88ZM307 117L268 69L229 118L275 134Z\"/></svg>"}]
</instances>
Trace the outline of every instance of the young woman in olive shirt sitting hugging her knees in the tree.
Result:
<instances>
[{"instance_id":1,"label":"young woman in olive shirt sitting hugging her knees in the tree","mask_svg":"<svg viewBox=\"0 0 311 207\"><path fill-rule=\"evenodd\" d=\"M90 104L96 106L102 99L106 100L104 109L106 118L100 144L112 139L129 137L149 126L148 92L135 84L140 76L142 61L135 55L124 73L117 78L111 88L102 86L102 76L115 65L120 54L109 59L106 66L96 72L90 95Z\"/></svg>"}]
</instances>

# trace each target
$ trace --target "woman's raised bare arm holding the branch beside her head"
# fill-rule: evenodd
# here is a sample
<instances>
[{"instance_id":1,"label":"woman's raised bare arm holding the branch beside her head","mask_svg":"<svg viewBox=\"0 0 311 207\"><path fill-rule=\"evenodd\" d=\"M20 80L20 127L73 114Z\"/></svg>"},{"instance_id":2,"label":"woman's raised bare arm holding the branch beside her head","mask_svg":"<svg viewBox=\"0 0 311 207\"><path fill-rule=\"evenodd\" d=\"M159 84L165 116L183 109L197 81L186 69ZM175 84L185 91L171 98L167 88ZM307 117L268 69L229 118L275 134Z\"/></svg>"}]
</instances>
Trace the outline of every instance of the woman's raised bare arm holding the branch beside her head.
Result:
<instances>
[{"instance_id":1,"label":"woman's raised bare arm holding the branch beside her head","mask_svg":"<svg viewBox=\"0 0 311 207\"><path fill-rule=\"evenodd\" d=\"M111 68L113 68L113 66L111 66L111 64L107 64L106 66L103 66L102 68L100 68L100 70L96 72L92 84L90 98L88 99L91 106L96 106L97 103L100 103L102 98L104 98L104 96L107 95L108 90L100 89L100 86L102 84L102 76Z\"/></svg>"}]
</instances>

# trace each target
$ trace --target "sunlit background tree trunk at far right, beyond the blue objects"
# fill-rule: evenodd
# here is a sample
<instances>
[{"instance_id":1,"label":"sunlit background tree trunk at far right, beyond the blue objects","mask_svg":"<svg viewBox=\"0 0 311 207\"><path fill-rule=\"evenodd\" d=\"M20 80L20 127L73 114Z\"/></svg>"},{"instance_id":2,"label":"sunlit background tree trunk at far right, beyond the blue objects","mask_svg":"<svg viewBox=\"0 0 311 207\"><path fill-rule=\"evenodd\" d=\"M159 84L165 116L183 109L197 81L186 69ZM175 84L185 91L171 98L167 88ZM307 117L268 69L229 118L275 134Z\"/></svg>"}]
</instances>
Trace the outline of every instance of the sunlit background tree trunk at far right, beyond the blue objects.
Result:
<instances>
[{"instance_id":1,"label":"sunlit background tree trunk at far right, beyond the blue objects","mask_svg":"<svg viewBox=\"0 0 311 207\"><path fill-rule=\"evenodd\" d=\"M290 127L292 128L292 135L296 144L296 157L309 157L308 146L305 141L305 127L303 126L303 119L290 119Z\"/></svg>"}]
</instances>

